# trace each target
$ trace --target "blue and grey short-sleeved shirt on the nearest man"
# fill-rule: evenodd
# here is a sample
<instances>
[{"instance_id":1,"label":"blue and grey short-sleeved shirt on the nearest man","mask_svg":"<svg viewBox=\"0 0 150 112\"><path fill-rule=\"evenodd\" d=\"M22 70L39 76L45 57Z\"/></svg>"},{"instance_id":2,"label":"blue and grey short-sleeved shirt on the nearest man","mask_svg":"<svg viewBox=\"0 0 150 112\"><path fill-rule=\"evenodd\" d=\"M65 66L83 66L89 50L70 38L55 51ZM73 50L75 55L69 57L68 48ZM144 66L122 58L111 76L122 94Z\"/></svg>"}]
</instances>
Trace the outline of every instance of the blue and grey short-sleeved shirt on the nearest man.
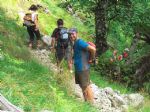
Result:
<instances>
[{"instance_id":1,"label":"blue and grey short-sleeved shirt on the nearest man","mask_svg":"<svg viewBox=\"0 0 150 112\"><path fill-rule=\"evenodd\" d=\"M87 47L89 44L81 39L77 39L74 43L74 65L75 71L84 71L90 68L88 63L89 52Z\"/></svg>"}]
</instances>

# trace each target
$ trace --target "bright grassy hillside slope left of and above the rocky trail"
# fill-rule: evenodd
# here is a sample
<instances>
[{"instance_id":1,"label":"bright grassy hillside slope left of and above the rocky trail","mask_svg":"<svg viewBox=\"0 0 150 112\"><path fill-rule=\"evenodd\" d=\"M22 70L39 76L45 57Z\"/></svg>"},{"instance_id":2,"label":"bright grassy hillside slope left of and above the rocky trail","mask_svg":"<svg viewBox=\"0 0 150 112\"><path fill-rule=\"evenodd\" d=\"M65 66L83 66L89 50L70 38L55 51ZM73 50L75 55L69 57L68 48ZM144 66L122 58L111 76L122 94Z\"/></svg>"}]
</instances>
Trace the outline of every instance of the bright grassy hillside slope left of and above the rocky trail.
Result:
<instances>
[{"instance_id":1,"label":"bright grassy hillside slope left of and above the rocky trail","mask_svg":"<svg viewBox=\"0 0 150 112\"><path fill-rule=\"evenodd\" d=\"M34 3L47 6L51 11L50 16L39 12L43 34L52 32L57 18L63 18L68 27L74 24L81 31L87 29L57 7L55 1L49 1L49 5L44 1ZM0 1L0 92L26 112L42 109L57 112L96 111L89 104L79 102L73 96L68 97L65 87L58 85L54 73L30 55L26 47L28 34L18 13L26 11L31 4L33 2L23 0Z\"/></svg>"}]
</instances>

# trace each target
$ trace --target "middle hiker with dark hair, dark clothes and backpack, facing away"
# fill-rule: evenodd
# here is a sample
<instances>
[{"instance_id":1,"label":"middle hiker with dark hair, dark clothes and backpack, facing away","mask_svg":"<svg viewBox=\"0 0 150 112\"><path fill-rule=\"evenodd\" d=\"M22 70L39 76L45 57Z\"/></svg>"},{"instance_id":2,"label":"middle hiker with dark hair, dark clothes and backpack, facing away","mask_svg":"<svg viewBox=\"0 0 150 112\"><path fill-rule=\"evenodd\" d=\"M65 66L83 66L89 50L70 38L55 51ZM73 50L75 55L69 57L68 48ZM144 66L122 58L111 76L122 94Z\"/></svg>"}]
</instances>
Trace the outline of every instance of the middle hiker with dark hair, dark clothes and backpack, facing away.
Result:
<instances>
[{"instance_id":1,"label":"middle hiker with dark hair, dark clothes and backpack, facing away","mask_svg":"<svg viewBox=\"0 0 150 112\"><path fill-rule=\"evenodd\" d=\"M61 67L62 60L66 59L68 69L72 73L72 43L62 19L57 20L57 28L54 29L51 37L51 47L56 50L57 66Z\"/></svg>"}]
</instances>

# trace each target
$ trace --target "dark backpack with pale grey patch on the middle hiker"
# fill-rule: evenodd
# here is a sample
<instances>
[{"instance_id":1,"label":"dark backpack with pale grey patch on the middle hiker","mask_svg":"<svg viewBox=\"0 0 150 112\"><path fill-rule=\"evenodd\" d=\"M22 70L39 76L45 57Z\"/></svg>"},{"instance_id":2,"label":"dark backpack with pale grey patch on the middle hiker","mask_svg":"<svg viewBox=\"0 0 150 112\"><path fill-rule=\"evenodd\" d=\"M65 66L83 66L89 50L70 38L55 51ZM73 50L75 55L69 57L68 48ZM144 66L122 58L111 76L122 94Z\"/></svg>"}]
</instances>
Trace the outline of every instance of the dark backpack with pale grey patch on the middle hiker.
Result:
<instances>
[{"instance_id":1,"label":"dark backpack with pale grey patch on the middle hiker","mask_svg":"<svg viewBox=\"0 0 150 112\"><path fill-rule=\"evenodd\" d=\"M60 45L61 48L66 49L68 47L68 43L69 43L68 29L65 27L59 28L58 45Z\"/></svg>"}]
</instances>

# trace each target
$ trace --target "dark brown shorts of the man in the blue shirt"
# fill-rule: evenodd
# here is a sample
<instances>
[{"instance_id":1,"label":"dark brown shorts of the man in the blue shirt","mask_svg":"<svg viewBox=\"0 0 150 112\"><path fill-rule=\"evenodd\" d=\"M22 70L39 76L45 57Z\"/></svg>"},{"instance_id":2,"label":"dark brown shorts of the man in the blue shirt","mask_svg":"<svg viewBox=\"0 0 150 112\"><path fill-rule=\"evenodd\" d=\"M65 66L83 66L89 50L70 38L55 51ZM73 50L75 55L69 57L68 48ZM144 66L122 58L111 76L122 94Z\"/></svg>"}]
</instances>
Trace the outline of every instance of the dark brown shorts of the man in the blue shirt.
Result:
<instances>
[{"instance_id":1,"label":"dark brown shorts of the man in the blue shirt","mask_svg":"<svg viewBox=\"0 0 150 112\"><path fill-rule=\"evenodd\" d=\"M75 82L79 84L81 88L84 88L90 84L90 71L75 71Z\"/></svg>"}]
</instances>

